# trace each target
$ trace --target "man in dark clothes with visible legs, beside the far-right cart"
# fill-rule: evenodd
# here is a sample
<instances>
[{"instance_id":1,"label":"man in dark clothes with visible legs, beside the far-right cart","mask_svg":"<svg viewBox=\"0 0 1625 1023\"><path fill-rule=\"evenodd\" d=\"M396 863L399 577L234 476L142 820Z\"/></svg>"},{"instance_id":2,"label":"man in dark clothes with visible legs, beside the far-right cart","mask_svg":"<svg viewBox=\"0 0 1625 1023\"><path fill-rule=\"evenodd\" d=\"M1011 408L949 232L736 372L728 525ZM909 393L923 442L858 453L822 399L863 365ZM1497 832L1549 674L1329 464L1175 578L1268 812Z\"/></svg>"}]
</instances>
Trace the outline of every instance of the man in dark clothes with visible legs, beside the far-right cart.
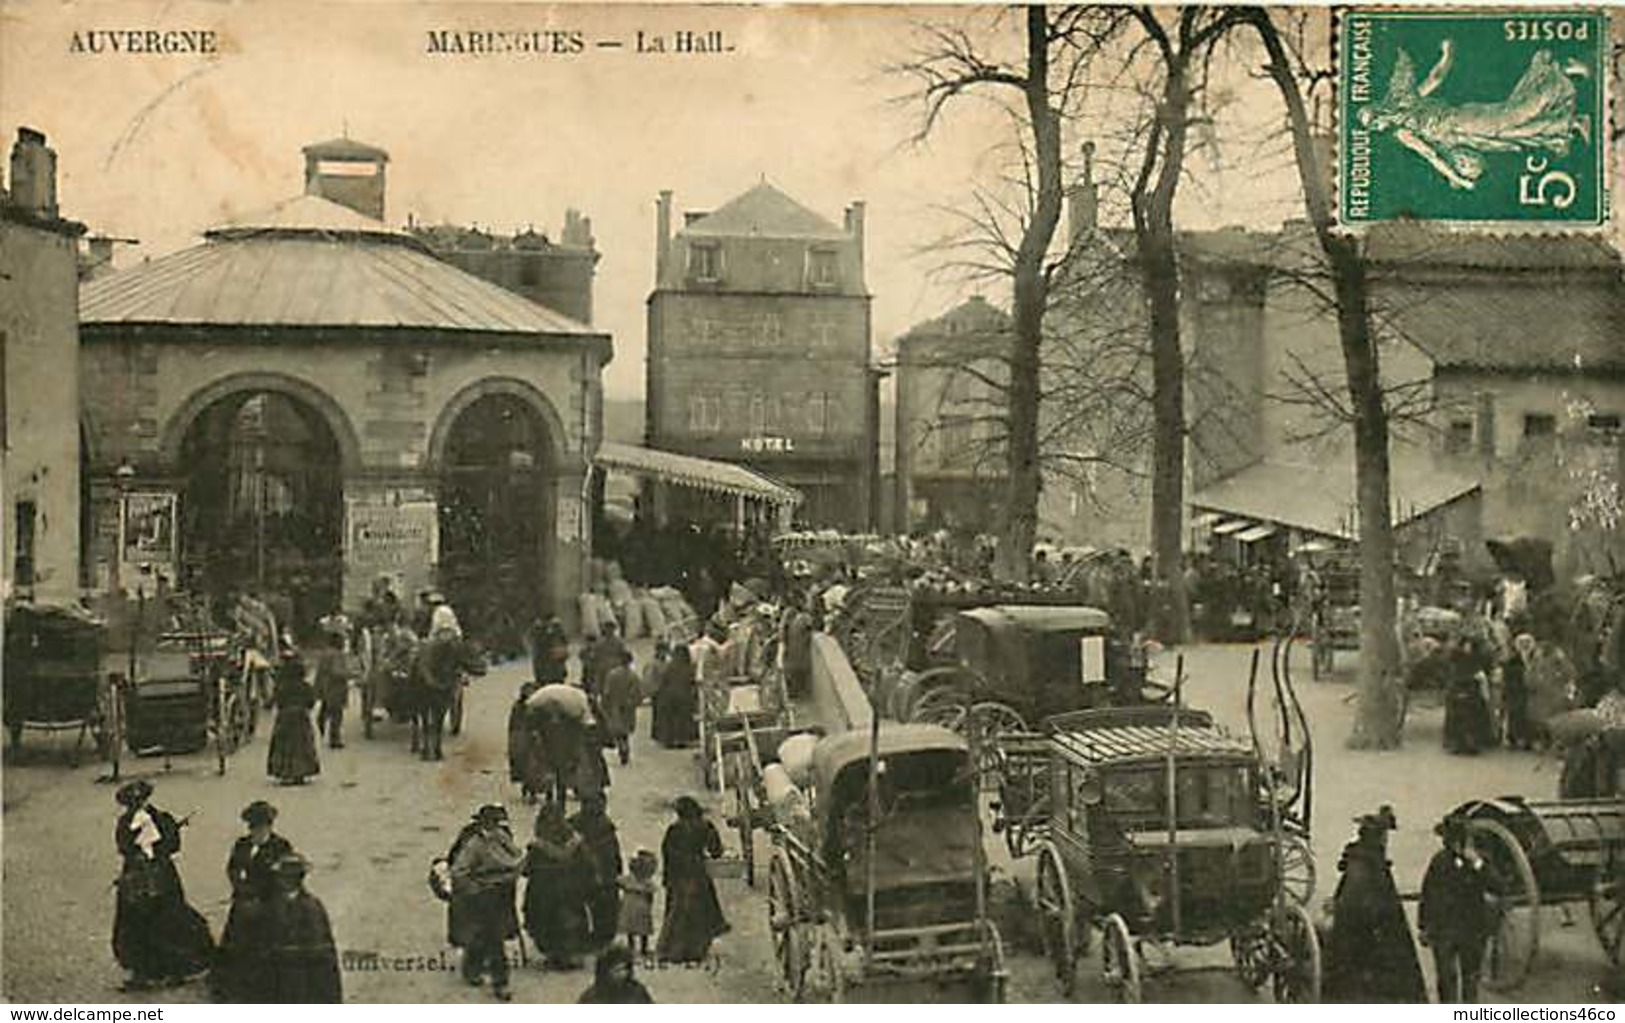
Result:
<instances>
[{"instance_id":1,"label":"man in dark clothes with visible legs, beside the far-right cart","mask_svg":"<svg viewBox=\"0 0 1625 1023\"><path fill-rule=\"evenodd\" d=\"M1484 947L1495 929L1493 875L1472 848L1464 817L1451 814L1433 831L1443 848L1422 877L1422 943L1433 948L1440 1004L1477 1002Z\"/></svg>"}]
</instances>

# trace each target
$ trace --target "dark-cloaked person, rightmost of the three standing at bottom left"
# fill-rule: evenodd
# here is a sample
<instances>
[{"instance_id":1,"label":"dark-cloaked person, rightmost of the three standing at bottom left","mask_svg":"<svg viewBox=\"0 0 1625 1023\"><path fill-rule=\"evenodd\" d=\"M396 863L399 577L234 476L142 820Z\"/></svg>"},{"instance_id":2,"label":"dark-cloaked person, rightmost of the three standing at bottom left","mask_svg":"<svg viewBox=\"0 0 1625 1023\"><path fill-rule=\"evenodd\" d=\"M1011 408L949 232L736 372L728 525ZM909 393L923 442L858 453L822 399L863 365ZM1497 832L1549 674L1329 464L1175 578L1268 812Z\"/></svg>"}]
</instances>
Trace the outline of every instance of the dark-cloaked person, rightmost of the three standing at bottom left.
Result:
<instances>
[{"instance_id":1,"label":"dark-cloaked person, rightmost of the three standing at bottom left","mask_svg":"<svg viewBox=\"0 0 1625 1023\"><path fill-rule=\"evenodd\" d=\"M343 1002L344 982L327 906L304 887L309 861L288 852L273 870L276 891L266 911L265 1000L283 1005Z\"/></svg>"}]
</instances>

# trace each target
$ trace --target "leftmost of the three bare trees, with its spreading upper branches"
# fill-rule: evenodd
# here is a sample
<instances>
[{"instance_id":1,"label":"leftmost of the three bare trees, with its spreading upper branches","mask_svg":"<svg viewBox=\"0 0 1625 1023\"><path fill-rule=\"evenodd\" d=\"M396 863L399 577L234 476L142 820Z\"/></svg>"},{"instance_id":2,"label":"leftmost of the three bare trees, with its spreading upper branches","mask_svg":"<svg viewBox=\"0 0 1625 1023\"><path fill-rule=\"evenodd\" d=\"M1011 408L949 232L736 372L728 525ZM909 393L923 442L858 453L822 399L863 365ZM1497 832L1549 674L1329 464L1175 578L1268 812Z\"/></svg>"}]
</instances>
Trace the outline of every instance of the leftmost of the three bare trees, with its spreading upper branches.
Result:
<instances>
[{"instance_id":1,"label":"leftmost of the three bare trees, with its spreading upper branches","mask_svg":"<svg viewBox=\"0 0 1625 1023\"><path fill-rule=\"evenodd\" d=\"M916 54L892 68L912 78L923 107L918 140L930 136L944 112L967 96L993 96L1014 125L1020 161L1016 200L1006 193L982 192L970 216L982 234L968 247L970 260L994 268L1011 283L1011 344L1004 357L1008 422L1004 443L1006 494L1001 502L999 573L1027 578L1029 554L1038 526L1038 494L1043 486L1040 463L1040 404L1045 318L1050 287L1064 263L1056 257L1061 226L1066 164L1063 123L1076 109L1086 88L1086 68L1112 36L1116 11L1087 6L1027 6L1001 11L996 28L1020 23L1017 55L998 55L996 32L973 37L964 26L933 23L921 26Z\"/></svg>"}]
</instances>

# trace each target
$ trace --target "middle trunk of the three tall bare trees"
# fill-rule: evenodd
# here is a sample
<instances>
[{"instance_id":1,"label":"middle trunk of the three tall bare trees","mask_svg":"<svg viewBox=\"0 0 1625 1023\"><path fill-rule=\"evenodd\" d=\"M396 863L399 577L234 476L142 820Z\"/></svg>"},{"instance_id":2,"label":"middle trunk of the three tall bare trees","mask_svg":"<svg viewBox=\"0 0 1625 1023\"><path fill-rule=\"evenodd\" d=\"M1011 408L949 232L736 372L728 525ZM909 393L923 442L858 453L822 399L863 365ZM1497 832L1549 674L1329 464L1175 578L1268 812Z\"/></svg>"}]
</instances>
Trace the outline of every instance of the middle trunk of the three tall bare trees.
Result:
<instances>
[{"instance_id":1,"label":"middle trunk of the three tall bare trees","mask_svg":"<svg viewBox=\"0 0 1625 1023\"><path fill-rule=\"evenodd\" d=\"M1141 286L1149 305L1152 378L1150 541L1155 593L1150 627L1170 643L1190 630L1185 594L1185 347L1180 336L1180 265L1173 195L1185 172L1190 88L1185 58L1167 68L1160 130L1149 133L1144 167L1157 164L1155 187L1141 175L1133 198ZM1160 151L1159 151L1160 149Z\"/></svg>"}]
</instances>

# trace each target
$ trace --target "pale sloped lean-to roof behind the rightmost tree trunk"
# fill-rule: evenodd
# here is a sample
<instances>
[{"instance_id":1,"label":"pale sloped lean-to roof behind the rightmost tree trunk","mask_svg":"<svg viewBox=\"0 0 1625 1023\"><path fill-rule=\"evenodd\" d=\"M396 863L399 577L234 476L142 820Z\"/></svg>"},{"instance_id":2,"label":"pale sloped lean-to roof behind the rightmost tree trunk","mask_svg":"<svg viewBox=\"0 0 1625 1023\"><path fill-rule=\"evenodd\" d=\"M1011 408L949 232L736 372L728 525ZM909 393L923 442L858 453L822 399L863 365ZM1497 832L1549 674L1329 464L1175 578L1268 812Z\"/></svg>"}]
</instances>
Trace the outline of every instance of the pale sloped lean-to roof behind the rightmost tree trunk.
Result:
<instances>
[{"instance_id":1,"label":"pale sloped lean-to roof behind the rightmost tree trunk","mask_svg":"<svg viewBox=\"0 0 1625 1023\"><path fill-rule=\"evenodd\" d=\"M1389 464L1394 524L1448 505L1479 489L1479 481L1396 458ZM1355 539L1354 458L1316 464L1263 460L1198 490L1194 508L1276 523L1318 536Z\"/></svg>"}]
</instances>

